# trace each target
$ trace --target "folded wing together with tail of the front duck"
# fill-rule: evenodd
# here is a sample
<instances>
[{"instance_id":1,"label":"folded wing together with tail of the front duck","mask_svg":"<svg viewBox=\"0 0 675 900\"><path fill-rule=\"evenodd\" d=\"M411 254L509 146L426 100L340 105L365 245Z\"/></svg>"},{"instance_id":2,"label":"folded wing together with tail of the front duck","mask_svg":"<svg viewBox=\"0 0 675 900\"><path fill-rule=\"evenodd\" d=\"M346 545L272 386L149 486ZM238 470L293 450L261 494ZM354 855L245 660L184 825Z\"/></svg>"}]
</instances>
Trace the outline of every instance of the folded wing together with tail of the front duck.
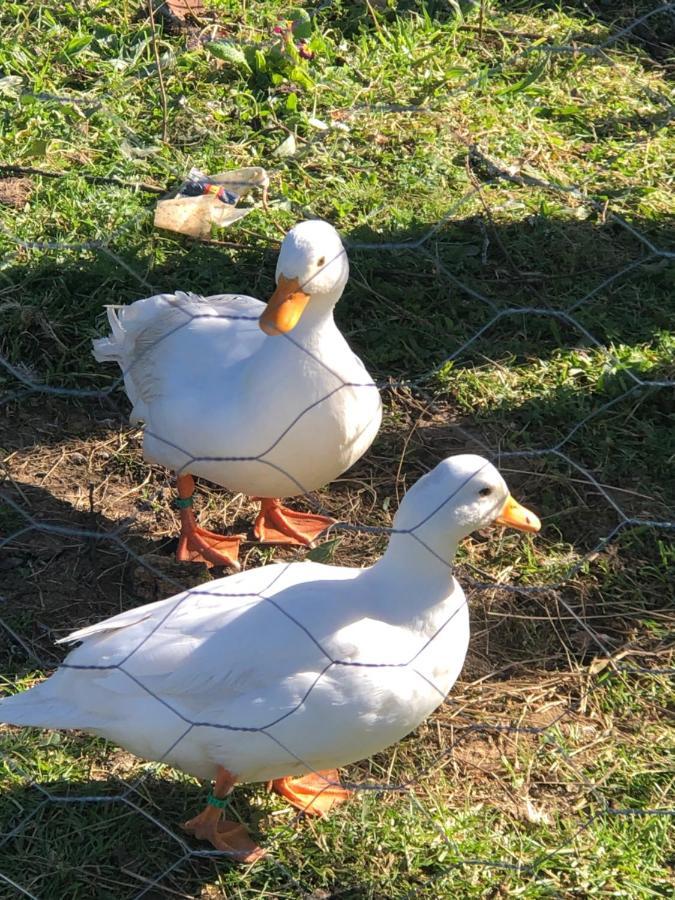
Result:
<instances>
[{"instance_id":1,"label":"folded wing together with tail of the front duck","mask_svg":"<svg viewBox=\"0 0 675 900\"><path fill-rule=\"evenodd\" d=\"M287 706L284 684L298 666L316 667L317 651L262 598L284 568L249 570L74 631L61 643L81 644L51 678L0 700L0 722L121 740L148 715L238 724L247 711L264 718Z\"/></svg>"}]
</instances>

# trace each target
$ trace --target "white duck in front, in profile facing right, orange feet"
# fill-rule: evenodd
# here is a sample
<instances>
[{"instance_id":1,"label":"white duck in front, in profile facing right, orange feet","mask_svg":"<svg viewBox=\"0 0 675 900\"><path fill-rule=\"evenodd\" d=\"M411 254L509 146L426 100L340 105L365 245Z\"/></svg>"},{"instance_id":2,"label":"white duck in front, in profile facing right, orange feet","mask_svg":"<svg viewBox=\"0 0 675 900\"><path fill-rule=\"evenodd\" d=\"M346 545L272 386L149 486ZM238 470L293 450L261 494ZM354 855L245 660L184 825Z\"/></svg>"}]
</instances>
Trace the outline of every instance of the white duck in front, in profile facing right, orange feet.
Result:
<instances>
[{"instance_id":1,"label":"white duck in front, in profile facing right, orange feet","mask_svg":"<svg viewBox=\"0 0 675 900\"><path fill-rule=\"evenodd\" d=\"M186 827L251 861L260 848L221 821L235 783L271 779L296 806L326 812L347 796L336 767L400 740L443 702L469 640L451 561L490 522L540 527L489 462L446 459L406 494L373 566L277 563L82 628L64 638L82 644L63 668L0 701L0 721L83 729L215 778Z\"/></svg>"}]
</instances>

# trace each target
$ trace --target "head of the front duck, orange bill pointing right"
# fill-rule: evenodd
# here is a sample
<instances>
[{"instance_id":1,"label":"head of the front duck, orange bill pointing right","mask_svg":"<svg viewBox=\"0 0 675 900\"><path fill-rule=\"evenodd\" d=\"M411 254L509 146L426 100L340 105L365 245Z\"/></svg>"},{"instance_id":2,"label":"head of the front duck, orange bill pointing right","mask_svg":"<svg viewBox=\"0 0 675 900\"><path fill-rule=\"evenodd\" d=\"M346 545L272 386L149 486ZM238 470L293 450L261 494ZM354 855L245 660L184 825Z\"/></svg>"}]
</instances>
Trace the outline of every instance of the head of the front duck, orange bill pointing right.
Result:
<instances>
[{"instance_id":1,"label":"head of the front duck, orange bill pointing right","mask_svg":"<svg viewBox=\"0 0 675 900\"><path fill-rule=\"evenodd\" d=\"M491 523L520 531L541 528L537 516L513 499L492 463L462 454L444 459L412 486L396 513L394 529L415 535L450 563L462 538Z\"/></svg>"}]
</instances>

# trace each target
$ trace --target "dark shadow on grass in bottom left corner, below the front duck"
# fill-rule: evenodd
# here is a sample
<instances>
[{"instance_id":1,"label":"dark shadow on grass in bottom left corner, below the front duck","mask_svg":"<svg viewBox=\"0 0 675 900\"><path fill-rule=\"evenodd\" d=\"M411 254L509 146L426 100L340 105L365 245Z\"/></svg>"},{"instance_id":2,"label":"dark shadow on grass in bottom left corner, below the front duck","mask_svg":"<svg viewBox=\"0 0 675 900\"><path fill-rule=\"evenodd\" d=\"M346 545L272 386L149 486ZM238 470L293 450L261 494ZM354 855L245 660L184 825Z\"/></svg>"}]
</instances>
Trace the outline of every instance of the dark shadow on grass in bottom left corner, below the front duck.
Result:
<instances>
[{"instance_id":1,"label":"dark shadow on grass in bottom left corner, below the front duck","mask_svg":"<svg viewBox=\"0 0 675 900\"><path fill-rule=\"evenodd\" d=\"M10 758L16 748L20 764L25 734L6 732L4 737ZM45 737L46 749L36 748L35 743L44 743ZM78 755L92 753L91 746L78 746L82 738L38 731L31 731L31 738L32 752L42 756L45 767L77 767ZM101 742L93 748L94 754L96 750L102 750ZM114 755L124 758L124 754ZM229 815L244 822L264 845L261 819L265 813L259 804L250 803L257 790L238 789ZM71 776L50 781L41 777L39 787L21 784L5 789L0 800L1 872L41 900L84 896L93 883L96 896L116 900L135 898L143 891L147 891L143 896L155 900L173 896L176 890L181 897L188 891L194 892L190 896L201 896L200 886L217 882L219 873L239 881L247 869L224 855L209 858L211 845L182 830L182 823L203 808L206 793L206 788L192 782L143 775L140 770L127 778ZM206 855L188 858L190 851ZM283 888L287 878L274 861L263 861L247 872L246 881L260 888L272 881ZM1 878L0 896L8 896Z\"/></svg>"}]
</instances>

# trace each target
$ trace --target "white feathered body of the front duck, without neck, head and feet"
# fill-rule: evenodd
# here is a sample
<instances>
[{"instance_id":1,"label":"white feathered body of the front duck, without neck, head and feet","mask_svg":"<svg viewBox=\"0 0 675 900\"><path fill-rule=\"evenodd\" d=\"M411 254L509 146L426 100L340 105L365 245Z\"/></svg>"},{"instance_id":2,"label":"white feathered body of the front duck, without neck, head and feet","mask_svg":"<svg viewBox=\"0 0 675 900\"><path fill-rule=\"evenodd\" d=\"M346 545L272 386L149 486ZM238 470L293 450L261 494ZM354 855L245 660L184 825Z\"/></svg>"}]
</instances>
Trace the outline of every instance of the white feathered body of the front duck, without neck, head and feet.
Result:
<instances>
[{"instance_id":1,"label":"white feathered body of the front duck, without neck, head and feet","mask_svg":"<svg viewBox=\"0 0 675 900\"><path fill-rule=\"evenodd\" d=\"M433 633L387 621L381 579L279 564L131 610L66 638L83 641L66 667L0 716L93 732L202 778L219 764L242 781L345 765L413 729L466 652L456 583L433 627L460 618L429 643Z\"/></svg>"}]
</instances>

